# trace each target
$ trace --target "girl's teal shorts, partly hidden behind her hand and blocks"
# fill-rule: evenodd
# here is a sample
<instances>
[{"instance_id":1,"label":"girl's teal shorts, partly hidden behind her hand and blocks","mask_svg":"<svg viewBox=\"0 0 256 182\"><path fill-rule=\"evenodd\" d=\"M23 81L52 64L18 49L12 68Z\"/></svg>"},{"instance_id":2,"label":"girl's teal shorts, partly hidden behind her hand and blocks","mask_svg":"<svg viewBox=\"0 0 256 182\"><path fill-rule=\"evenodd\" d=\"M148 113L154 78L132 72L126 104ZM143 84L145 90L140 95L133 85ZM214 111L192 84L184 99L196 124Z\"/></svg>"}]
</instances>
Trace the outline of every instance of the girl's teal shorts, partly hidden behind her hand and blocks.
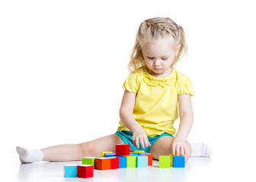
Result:
<instances>
[{"instance_id":1,"label":"girl's teal shorts, partly hidden behind her hand and blocks","mask_svg":"<svg viewBox=\"0 0 256 182\"><path fill-rule=\"evenodd\" d=\"M164 136L174 137L173 135L171 135L169 133L162 133L162 135L158 135L158 136L155 136L155 137L148 137L148 140L149 140L149 143L151 144L151 146L148 146L148 147L145 147L144 149L142 149L142 146L139 143L139 149L137 149L136 146L133 145L133 133L132 132L126 131L126 130L122 130L122 131L117 130L117 132L115 134L117 134L123 140L123 143L130 144L130 149L132 149L132 150L143 150L145 152L149 152L152 145L159 138L164 137Z\"/></svg>"}]
</instances>

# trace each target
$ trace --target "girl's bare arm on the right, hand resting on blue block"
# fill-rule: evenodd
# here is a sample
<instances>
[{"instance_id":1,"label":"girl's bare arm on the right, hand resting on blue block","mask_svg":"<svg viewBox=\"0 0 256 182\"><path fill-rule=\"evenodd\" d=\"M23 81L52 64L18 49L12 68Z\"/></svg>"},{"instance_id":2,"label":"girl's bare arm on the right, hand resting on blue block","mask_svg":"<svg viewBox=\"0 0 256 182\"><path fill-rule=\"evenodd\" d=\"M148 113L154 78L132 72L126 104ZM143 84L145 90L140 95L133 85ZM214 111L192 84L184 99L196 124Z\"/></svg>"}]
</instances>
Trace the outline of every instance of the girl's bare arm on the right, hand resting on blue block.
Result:
<instances>
[{"instance_id":1,"label":"girl's bare arm on the right, hand resting on blue block","mask_svg":"<svg viewBox=\"0 0 256 182\"><path fill-rule=\"evenodd\" d=\"M180 126L172 143L172 154L184 155L186 152L185 141L194 121L194 114L190 95L181 94L178 96L180 114Z\"/></svg>"}]
</instances>

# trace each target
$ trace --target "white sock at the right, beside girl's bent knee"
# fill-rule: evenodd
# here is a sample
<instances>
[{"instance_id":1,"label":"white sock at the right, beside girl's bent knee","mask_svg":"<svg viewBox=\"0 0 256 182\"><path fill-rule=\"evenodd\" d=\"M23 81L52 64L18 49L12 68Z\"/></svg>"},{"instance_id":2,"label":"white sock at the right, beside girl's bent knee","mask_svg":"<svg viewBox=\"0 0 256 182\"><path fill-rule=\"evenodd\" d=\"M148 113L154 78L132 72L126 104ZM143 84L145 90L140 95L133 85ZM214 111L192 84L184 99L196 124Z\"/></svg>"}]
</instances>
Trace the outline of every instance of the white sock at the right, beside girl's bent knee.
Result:
<instances>
[{"instance_id":1,"label":"white sock at the right, beside girl's bent knee","mask_svg":"<svg viewBox=\"0 0 256 182\"><path fill-rule=\"evenodd\" d=\"M191 157L210 157L212 149L206 143L191 143L192 154Z\"/></svg>"}]
</instances>

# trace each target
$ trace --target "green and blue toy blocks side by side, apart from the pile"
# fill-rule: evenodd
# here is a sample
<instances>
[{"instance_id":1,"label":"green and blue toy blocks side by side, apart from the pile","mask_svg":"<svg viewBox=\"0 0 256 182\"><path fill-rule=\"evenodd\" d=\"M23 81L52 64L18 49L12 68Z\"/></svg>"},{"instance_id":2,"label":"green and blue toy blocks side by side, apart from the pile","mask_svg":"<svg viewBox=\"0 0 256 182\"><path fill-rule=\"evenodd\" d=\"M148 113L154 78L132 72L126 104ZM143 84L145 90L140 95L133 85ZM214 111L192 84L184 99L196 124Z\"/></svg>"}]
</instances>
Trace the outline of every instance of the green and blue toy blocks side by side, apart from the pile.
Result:
<instances>
[{"instance_id":1,"label":"green and blue toy blocks side by side, apart from the pile","mask_svg":"<svg viewBox=\"0 0 256 182\"><path fill-rule=\"evenodd\" d=\"M184 155L159 155L159 168L185 168Z\"/></svg>"}]
</instances>

